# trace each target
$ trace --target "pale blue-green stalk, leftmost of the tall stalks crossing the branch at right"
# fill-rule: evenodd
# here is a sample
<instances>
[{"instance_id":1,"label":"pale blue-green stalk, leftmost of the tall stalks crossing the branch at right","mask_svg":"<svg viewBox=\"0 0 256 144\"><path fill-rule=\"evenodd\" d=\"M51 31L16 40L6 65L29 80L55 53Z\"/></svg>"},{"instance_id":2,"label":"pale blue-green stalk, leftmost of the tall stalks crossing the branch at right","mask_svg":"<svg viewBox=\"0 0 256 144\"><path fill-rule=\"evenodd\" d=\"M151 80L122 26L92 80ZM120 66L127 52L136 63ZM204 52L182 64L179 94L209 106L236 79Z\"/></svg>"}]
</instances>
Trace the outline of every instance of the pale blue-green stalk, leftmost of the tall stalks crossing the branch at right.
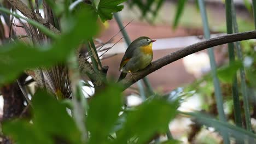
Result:
<instances>
[{"instance_id":1,"label":"pale blue-green stalk, leftmost of the tall stalks crossing the branch at right","mask_svg":"<svg viewBox=\"0 0 256 144\"><path fill-rule=\"evenodd\" d=\"M199 1L199 8L200 8L202 21L203 21L203 33L204 33L206 39L210 39L210 28L208 26L205 4L203 3L203 0L198 0L198 1ZM218 114L219 114L219 119L222 122L226 122L226 116L225 116L224 107L223 107L222 90L220 88L219 79L217 77L217 67L216 67L216 61L214 58L214 52L213 52L212 48L208 49L207 51L208 51L208 55L210 57L211 71L212 71L212 76L213 76L215 98L216 98L216 102L217 102L217 110L218 110ZM228 133L221 131L221 134L223 136L224 143L225 144L230 143Z\"/></svg>"}]
</instances>

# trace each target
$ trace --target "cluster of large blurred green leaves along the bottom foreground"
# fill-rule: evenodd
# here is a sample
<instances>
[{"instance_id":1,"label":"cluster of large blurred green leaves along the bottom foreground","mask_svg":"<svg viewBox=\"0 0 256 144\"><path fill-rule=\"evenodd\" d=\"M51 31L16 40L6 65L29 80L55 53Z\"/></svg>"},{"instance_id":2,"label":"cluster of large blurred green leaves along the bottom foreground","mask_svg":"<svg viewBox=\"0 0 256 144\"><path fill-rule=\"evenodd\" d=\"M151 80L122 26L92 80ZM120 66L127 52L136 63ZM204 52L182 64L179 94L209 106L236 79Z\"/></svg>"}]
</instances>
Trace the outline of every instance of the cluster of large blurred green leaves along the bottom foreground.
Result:
<instances>
[{"instance_id":1,"label":"cluster of large blurred green leaves along the bottom foreground","mask_svg":"<svg viewBox=\"0 0 256 144\"><path fill-rule=\"evenodd\" d=\"M166 131L166 125L177 114L178 104L177 100L170 102L154 98L124 111L121 109L120 87L109 85L90 102L86 118L90 131L89 143L125 143L135 137L138 143L144 143L155 134ZM32 106L32 123L25 119L4 122L4 134L13 137L18 143L82 143L79 141L80 132L65 105L53 95L39 90L33 96ZM123 114L119 116L122 111ZM120 123L121 129L115 131L119 118L124 120ZM109 139L108 136L114 131L119 134L114 140Z\"/></svg>"}]
</instances>

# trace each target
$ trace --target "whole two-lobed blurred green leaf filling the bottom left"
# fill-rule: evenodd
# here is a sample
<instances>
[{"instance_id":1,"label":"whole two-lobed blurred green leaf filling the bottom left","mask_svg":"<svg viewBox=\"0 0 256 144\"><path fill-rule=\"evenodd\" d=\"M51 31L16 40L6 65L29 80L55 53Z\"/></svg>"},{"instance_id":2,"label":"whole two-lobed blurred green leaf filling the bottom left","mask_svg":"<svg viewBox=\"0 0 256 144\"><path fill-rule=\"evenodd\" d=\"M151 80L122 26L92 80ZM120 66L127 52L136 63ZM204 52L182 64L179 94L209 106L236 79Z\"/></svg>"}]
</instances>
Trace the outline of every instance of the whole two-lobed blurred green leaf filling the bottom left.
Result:
<instances>
[{"instance_id":1,"label":"whole two-lobed blurred green leaf filling the bottom left","mask_svg":"<svg viewBox=\"0 0 256 144\"><path fill-rule=\"evenodd\" d=\"M18 143L81 143L80 131L66 107L53 95L39 90L32 99L32 123L17 119L3 124L3 133Z\"/></svg>"}]
</instances>

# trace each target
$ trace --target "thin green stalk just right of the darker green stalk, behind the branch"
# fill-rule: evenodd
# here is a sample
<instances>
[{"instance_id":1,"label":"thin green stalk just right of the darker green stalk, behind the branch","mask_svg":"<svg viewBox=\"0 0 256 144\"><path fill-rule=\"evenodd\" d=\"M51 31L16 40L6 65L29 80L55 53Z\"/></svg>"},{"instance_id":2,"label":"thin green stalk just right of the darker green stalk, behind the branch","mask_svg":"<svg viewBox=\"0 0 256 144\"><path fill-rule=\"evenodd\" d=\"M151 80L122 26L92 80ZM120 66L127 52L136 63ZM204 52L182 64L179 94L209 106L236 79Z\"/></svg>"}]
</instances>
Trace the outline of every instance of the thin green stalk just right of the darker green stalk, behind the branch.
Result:
<instances>
[{"instance_id":1,"label":"thin green stalk just right of the darker green stalk, behind the branch","mask_svg":"<svg viewBox=\"0 0 256 144\"><path fill-rule=\"evenodd\" d=\"M231 10L232 10L232 23L233 23L233 27L234 27L234 32L238 33L236 10L235 10L235 5L234 5L233 1L231 1ZM236 44L237 57L238 57L239 61L242 61L243 54L242 54L240 41L237 41L235 44ZM251 116L249 113L249 98L248 98L248 92L247 92L247 86L246 86L245 68L243 66L240 68L240 77L241 77L241 89L242 89L242 95L243 95L243 107L245 109L246 129L249 131L252 131ZM234 104L234 107L240 108L240 103L238 103L238 105ZM241 116L241 114L240 114L240 116ZM237 126L242 127L242 121L241 121L241 124L237 125Z\"/></svg>"}]
</instances>

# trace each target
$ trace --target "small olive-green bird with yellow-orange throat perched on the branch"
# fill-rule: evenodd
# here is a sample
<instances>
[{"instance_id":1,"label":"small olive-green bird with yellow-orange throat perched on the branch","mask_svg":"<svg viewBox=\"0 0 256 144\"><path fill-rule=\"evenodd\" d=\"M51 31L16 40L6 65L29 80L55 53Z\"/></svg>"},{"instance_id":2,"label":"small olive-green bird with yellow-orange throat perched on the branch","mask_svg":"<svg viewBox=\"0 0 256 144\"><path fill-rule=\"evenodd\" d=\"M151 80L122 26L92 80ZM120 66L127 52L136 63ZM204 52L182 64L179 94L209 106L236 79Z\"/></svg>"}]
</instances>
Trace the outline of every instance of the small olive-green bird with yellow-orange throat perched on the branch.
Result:
<instances>
[{"instance_id":1,"label":"small olive-green bird with yellow-orange throat perched on the branch","mask_svg":"<svg viewBox=\"0 0 256 144\"><path fill-rule=\"evenodd\" d=\"M132 41L125 51L124 57L120 63L119 70L122 71L119 80L125 78L127 73L136 73L139 70L146 68L153 59L152 44L156 40L148 37L139 37Z\"/></svg>"}]
</instances>

